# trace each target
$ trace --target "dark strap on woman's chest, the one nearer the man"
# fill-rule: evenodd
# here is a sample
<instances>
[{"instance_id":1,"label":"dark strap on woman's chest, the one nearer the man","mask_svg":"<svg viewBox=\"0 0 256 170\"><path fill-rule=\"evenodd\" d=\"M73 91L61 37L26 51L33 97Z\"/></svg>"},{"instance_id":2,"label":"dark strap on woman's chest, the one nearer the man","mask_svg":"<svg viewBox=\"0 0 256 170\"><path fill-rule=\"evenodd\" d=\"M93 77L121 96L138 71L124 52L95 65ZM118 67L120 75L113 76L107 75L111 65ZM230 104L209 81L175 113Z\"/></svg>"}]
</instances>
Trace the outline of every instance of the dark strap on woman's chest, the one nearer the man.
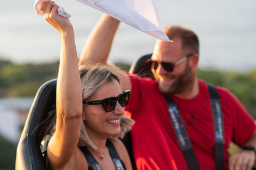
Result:
<instances>
[{"instance_id":1,"label":"dark strap on woman's chest, the one nearer the man","mask_svg":"<svg viewBox=\"0 0 256 170\"><path fill-rule=\"evenodd\" d=\"M117 170L126 170L124 163L120 159L119 155L117 154L116 148L114 147L113 143L109 139L107 139L106 146L108 147L109 154L114 162L114 165Z\"/></svg>"}]
</instances>

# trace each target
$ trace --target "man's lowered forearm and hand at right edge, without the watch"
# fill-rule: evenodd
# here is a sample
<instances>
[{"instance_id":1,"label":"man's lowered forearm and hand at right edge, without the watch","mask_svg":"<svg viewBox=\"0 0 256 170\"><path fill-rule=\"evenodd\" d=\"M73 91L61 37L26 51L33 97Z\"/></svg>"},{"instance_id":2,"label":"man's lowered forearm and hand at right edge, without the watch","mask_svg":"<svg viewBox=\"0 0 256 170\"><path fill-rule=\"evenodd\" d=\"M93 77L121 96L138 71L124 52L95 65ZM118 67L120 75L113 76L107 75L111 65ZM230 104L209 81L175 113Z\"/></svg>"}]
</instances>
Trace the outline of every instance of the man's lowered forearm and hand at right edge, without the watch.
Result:
<instances>
[{"instance_id":1,"label":"man's lowered forearm and hand at right edge, without the watch","mask_svg":"<svg viewBox=\"0 0 256 170\"><path fill-rule=\"evenodd\" d=\"M245 146L251 146L256 148L256 130L247 142ZM242 149L238 154L231 158L230 170L235 169L252 169L255 163L256 153L253 150Z\"/></svg>"}]
</instances>

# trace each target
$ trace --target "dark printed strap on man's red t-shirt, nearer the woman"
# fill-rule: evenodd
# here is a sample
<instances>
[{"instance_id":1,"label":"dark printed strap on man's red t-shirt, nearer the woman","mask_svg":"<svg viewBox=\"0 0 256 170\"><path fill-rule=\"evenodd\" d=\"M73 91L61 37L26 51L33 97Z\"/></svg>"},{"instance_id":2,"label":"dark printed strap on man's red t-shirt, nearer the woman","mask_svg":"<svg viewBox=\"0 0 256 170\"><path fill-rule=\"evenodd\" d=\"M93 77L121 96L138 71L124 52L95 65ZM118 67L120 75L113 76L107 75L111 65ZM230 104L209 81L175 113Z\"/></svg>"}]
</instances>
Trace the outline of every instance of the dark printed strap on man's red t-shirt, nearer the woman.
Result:
<instances>
[{"instance_id":1,"label":"dark printed strap on man's red t-shirt, nearer the woman","mask_svg":"<svg viewBox=\"0 0 256 170\"><path fill-rule=\"evenodd\" d=\"M178 107L172 98L165 94L164 97L168 106L168 111L170 114L170 119L174 128L174 132L178 139L183 156L185 157L185 160L187 162L188 168L193 170L199 170L200 167L197 162L196 155L192 148L190 139L188 137L186 127L178 111Z\"/></svg>"}]
</instances>

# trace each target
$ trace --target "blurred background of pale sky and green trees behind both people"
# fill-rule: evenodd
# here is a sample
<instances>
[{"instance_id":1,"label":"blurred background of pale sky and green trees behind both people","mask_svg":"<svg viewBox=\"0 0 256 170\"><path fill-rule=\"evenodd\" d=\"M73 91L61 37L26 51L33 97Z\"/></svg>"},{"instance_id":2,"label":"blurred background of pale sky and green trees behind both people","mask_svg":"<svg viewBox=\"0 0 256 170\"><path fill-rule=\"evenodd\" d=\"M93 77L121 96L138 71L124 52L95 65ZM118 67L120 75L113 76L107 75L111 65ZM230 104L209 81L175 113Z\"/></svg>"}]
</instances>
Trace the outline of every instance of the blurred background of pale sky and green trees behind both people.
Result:
<instances>
[{"instance_id":1,"label":"blurred background of pale sky and green trees behind both people","mask_svg":"<svg viewBox=\"0 0 256 170\"><path fill-rule=\"evenodd\" d=\"M181 24L197 33L198 77L228 88L256 118L256 1L155 1L163 28ZM79 55L102 13L74 0L55 3L72 15ZM122 23L110 60L128 70L155 40ZM59 52L60 34L35 13L34 1L0 0L0 169L14 169L29 108L37 89L57 78Z\"/></svg>"}]
</instances>

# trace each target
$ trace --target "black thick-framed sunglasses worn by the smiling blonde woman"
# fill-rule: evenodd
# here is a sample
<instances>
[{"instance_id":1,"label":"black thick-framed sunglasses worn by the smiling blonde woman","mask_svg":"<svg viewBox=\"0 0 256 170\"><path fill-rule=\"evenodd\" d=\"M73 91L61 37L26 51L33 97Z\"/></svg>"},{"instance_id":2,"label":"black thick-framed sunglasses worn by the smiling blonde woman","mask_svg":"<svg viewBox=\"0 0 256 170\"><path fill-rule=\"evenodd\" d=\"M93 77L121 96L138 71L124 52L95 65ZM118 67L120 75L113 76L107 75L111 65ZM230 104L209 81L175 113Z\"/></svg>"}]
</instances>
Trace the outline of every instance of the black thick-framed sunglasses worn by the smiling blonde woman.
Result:
<instances>
[{"instance_id":1,"label":"black thick-framed sunglasses worn by the smiling blonde woman","mask_svg":"<svg viewBox=\"0 0 256 170\"><path fill-rule=\"evenodd\" d=\"M118 101L121 107L124 107L128 104L129 97L130 97L130 90L127 90L127 91L123 91L122 94L117 97L109 97L102 100L83 101L83 103L87 105L102 104L106 112L112 112L116 108L116 101Z\"/></svg>"}]
</instances>

